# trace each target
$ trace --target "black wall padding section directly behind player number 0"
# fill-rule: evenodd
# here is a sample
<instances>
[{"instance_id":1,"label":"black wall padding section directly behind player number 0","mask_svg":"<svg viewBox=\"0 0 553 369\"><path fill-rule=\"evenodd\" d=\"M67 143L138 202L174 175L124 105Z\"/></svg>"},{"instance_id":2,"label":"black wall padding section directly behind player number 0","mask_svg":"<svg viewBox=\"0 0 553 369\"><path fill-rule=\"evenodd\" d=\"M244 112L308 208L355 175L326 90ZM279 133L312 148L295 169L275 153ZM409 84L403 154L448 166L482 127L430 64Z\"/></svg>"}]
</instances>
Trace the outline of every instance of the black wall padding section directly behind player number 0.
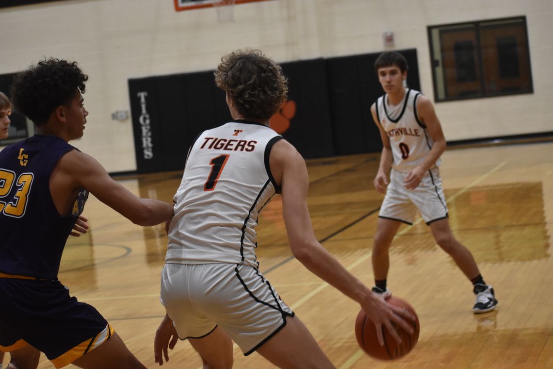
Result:
<instances>
[{"instance_id":1,"label":"black wall padding section directly behind player number 0","mask_svg":"<svg viewBox=\"0 0 553 369\"><path fill-rule=\"evenodd\" d=\"M399 51L409 64L408 85L420 90L416 50ZM371 105L384 92L374 71L380 53L327 59L328 95L336 155L380 152Z\"/></svg>"}]
</instances>

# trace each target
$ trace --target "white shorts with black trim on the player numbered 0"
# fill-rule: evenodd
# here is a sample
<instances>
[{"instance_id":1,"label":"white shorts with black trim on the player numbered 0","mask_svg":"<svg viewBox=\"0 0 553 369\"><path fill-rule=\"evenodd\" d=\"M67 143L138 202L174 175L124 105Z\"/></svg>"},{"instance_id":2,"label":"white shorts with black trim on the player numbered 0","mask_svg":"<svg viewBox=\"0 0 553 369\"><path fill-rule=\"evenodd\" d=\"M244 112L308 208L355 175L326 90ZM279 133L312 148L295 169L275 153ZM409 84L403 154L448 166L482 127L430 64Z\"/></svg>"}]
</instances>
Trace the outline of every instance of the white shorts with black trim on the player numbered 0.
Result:
<instances>
[{"instance_id":1,"label":"white shorts with black trim on the player numbered 0","mask_svg":"<svg viewBox=\"0 0 553 369\"><path fill-rule=\"evenodd\" d=\"M392 169L379 217L413 224L418 209L426 224L447 218L447 205L438 168L426 171L413 190L405 188L407 173Z\"/></svg>"}]
</instances>

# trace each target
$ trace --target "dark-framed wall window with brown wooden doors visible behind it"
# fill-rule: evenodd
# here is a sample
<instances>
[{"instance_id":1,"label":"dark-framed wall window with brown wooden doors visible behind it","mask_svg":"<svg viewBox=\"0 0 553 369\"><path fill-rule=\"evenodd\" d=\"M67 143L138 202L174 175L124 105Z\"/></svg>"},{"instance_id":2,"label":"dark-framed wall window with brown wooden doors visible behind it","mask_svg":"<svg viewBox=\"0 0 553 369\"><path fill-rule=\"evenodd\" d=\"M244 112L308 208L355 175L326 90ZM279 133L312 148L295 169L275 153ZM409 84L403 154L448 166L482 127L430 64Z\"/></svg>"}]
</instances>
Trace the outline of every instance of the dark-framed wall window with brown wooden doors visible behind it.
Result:
<instances>
[{"instance_id":1,"label":"dark-framed wall window with brown wooden doors visible behind it","mask_svg":"<svg viewBox=\"0 0 553 369\"><path fill-rule=\"evenodd\" d=\"M436 101L532 93L526 17L428 27Z\"/></svg>"}]
</instances>

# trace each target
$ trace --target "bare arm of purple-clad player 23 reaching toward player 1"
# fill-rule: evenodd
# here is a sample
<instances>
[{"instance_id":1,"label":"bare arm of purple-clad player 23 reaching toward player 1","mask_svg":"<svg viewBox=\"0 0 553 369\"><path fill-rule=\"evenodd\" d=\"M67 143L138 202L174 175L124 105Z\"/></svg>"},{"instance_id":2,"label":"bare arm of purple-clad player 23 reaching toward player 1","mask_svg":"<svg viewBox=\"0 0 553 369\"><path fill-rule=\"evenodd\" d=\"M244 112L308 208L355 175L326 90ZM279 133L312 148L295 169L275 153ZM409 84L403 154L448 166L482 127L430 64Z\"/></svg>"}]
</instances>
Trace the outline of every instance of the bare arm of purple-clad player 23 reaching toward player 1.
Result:
<instances>
[{"instance_id":1,"label":"bare arm of purple-clad player 23 reaching toward player 1","mask_svg":"<svg viewBox=\"0 0 553 369\"><path fill-rule=\"evenodd\" d=\"M96 159L71 150L61 157L50 178L50 192L58 210L69 209L73 200L67 194L80 187L134 224L153 226L173 216L173 205L135 196L114 181ZM64 201L67 203L64 204Z\"/></svg>"}]
</instances>

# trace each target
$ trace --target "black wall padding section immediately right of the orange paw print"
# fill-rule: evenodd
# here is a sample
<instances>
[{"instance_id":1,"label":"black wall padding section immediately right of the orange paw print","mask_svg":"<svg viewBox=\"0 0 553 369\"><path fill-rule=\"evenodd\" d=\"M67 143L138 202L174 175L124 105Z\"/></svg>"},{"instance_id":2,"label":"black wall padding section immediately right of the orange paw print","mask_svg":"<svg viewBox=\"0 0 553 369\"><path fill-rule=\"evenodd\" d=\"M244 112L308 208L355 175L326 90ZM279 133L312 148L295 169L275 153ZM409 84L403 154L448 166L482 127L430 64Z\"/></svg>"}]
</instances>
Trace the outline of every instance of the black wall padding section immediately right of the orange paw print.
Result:
<instances>
[{"instance_id":1,"label":"black wall padding section immediately right of the orange paw print","mask_svg":"<svg viewBox=\"0 0 553 369\"><path fill-rule=\"evenodd\" d=\"M288 100L296 102L290 128L283 133L304 158L335 155L328 106L326 61L324 59L281 64L288 77Z\"/></svg>"}]
</instances>

